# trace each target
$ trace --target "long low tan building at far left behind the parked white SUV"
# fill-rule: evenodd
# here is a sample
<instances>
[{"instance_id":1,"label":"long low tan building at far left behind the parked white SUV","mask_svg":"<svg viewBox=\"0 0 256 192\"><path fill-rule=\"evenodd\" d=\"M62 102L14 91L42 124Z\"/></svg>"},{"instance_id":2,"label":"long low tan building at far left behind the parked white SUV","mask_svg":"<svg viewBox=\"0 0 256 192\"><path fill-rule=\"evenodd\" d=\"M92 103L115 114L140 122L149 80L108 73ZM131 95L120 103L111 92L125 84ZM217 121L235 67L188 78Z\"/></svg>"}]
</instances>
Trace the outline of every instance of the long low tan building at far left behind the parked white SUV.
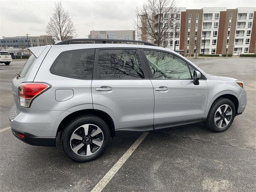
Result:
<instances>
[{"instance_id":1,"label":"long low tan building at far left behind the parked white SUV","mask_svg":"<svg viewBox=\"0 0 256 192\"><path fill-rule=\"evenodd\" d=\"M6 48L20 49L44 45L52 45L54 40L51 36L15 36L15 37L4 37L0 39L0 48L3 50L4 45Z\"/></svg>"}]
</instances>

